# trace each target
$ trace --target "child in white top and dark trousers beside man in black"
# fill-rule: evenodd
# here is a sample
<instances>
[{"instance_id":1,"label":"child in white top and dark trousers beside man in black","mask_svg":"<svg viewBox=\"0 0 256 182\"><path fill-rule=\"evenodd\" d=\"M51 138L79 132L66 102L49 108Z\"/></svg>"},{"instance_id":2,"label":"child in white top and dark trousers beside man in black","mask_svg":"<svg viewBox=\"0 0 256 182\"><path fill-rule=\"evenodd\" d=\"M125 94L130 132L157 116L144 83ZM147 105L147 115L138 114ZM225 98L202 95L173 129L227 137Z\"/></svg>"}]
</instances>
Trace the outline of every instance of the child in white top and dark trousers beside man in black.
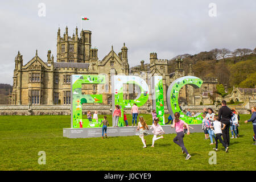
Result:
<instances>
[{"instance_id":1,"label":"child in white top and dark trousers beside man in black","mask_svg":"<svg viewBox=\"0 0 256 182\"><path fill-rule=\"evenodd\" d=\"M224 130L225 127L226 127L226 125L224 123L218 121L217 115L214 115L214 121L213 121L212 125L210 125L210 128L214 129L214 133L216 134L216 144L215 144L215 148L213 148L216 151L218 151L218 140L220 140L220 143L225 147L225 152L228 152L228 150L229 150L229 147L226 146L226 144L223 142L223 140L221 138L221 135L222 135L221 130Z\"/></svg>"}]
</instances>

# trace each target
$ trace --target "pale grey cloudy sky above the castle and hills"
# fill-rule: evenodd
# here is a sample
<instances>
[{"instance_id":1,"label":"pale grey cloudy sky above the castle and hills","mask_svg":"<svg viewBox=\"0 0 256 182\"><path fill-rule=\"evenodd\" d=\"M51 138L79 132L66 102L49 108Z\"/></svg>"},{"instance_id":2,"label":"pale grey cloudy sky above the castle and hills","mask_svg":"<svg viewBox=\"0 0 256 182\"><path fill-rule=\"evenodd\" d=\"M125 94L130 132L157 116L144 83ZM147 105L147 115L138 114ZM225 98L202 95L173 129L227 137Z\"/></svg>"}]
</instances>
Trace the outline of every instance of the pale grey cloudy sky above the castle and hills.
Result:
<instances>
[{"instance_id":1,"label":"pale grey cloudy sky above the castle and hills","mask_svg":"<svg viewBox=\"0 0 256 182\"><path fill-rule=\"evenodd\" d=\"M42 6L43 5L43 6ZM44 8L45 7L45 8ZM44 11L45 10L45 11ZM81 23L81 17L89 20ZM13 85L15 56L23 65L35 56L46 61L50 49L56 61L57 29L69 36L76 26L92 31L92 48L102 60L113 45L128 48L130 67L158 59L194 55L214 48L256 47L255 0L1 0L0 83Z\"/></svg>"}]
</instances>

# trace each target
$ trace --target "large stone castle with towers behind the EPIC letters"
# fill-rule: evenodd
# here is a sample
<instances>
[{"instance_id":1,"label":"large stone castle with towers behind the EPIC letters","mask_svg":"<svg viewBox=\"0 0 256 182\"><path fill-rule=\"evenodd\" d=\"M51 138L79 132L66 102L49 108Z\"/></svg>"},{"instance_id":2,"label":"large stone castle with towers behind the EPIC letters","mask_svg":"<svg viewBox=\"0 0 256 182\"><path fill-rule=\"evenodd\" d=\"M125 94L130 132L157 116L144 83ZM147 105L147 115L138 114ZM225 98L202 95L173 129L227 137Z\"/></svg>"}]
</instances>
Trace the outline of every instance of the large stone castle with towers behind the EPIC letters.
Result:
<instances>
[{"instance_id":1,"label":"large stone castle with towers behind the EPIC letters","mask_svg":"<svg viewBox=\"0 0 256 182\"><path fill-rule=\"evenodd\" d=\"M65 28L63 37L60 36L60 28L57 31L57 59L54 61L51 51L47 53L47 60L35 56L23 65L23 56L18 52L15 57L13 76L13 90L10 93L11 105L69 105L71 104L71 75L87 74L98 75L105 73L107 83L102 85L83 85L84 94L103 93L103 104L108 105L112 99L111 76L112 75L138 75L150 85L150 77L161 75L163 77L163 91L167 93L168 86L176 78L185 76L183 60L176 59L175 72L168 73L168 60L158 59L156 53L150 53L150 63L137 67L129 67L127 47L125 43L121 51L115 53L112 49L102 60L98 60L98 49L92 48L89 30L82 30L80 36L76 27L76 33L68 36L68 27ZM193 75L192 65L189 65L188 75ZM205 93L211 93L218 83L217 78L201 78L204 83L200 89L192 86L184 86L180 90L181 101L187 104L199 105L200 102L210 104L209 97ZM125 99L134 99L139 92L137 86L127 85L124 89ZM152 105L148 101L147 105ZM164 103L166 94L164 94Z\"/></svg>"}]
</instances>

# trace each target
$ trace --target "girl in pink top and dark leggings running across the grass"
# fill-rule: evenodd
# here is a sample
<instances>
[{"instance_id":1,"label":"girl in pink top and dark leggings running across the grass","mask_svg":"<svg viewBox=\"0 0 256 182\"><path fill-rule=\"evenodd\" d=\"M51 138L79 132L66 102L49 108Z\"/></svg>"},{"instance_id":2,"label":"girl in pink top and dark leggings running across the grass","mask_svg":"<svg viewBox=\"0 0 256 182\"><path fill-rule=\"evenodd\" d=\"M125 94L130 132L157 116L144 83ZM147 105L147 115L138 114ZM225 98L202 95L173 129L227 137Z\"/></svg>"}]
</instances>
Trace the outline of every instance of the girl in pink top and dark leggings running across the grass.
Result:
<instances>
[{"instance_id":1,"label":"girl in pink top and dark leggings running across the grass","mask_svg":"<svg viewBox=\"0 0 256 182\"><path fill-rule=\"evenodd\" d=\"M184 137L184 132L183 132L183 125L185 125L188 129L188 133L187 135L189 135L189 127L188 127L188 124L185 123L184 121L182 121L180 118L180 113L176 112L174 114L174 123L172 124L171 127L175 127L175 130L176 130L176 133L177 133L177 136L174 138L174 143L176 143L178 146L181 147L182 149L182 154L186 153L187 154L187 157L186 157L186 160L188 160L189 158L191 158L191 155L189 155L188 151L187 151L187 148L185 148L184 146L184 142L183 142L183 137Z\"/></svg>"}]
</instances>

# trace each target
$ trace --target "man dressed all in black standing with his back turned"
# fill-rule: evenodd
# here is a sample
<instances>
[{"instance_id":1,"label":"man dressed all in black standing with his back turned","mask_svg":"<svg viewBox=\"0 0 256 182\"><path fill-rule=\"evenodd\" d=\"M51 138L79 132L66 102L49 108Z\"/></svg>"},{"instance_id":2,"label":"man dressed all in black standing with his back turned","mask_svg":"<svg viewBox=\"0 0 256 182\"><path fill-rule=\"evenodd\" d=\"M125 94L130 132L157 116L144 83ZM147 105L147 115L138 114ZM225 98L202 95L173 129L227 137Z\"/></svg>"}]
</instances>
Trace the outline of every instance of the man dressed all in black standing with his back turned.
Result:
<instances>
[{"instance_id":1,"label":"man dressed all in black standing with his back turned","mask_svg":"<svg viewBox=\"0 0 256 182\"><path fill-rule=\"evenodd\" d=\"M226 125L226 127L222 131L222 136L226 146L229 146L229 127L230 127L230 119L232 117L232 111L231 109L229 109L228 106L226 106L225 100L221 102L221 106L222 107L220 108L220 110L218 110L218 119L220 120L220 122Z\"/></svg>"}]
</instances>

